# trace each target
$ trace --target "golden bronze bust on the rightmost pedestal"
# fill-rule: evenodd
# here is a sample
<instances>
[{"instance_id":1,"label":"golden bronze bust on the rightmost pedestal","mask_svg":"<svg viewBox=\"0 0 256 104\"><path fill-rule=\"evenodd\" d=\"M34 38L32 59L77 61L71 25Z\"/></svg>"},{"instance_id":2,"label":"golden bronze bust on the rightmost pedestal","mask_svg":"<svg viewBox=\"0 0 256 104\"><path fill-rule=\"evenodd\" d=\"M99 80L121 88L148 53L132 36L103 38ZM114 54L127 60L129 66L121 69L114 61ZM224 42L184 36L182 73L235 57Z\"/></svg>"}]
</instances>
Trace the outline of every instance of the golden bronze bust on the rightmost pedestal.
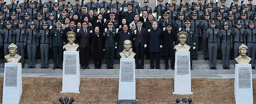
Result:
<instances>
[{"instance_id":1,"label":"golden bronze bust on the rightmost pedestal","mask_svg":"<svg viewBox=\"0 0 256 104\"><path fill-rule=\"evenodd\" d=\"M248 47L244 44L240 45L239 47L239 53L240 55L235 58L235 61L237 61L238 64L249 64L251 61L251 58L246 55Z\"/></svg>"}]
</instances>

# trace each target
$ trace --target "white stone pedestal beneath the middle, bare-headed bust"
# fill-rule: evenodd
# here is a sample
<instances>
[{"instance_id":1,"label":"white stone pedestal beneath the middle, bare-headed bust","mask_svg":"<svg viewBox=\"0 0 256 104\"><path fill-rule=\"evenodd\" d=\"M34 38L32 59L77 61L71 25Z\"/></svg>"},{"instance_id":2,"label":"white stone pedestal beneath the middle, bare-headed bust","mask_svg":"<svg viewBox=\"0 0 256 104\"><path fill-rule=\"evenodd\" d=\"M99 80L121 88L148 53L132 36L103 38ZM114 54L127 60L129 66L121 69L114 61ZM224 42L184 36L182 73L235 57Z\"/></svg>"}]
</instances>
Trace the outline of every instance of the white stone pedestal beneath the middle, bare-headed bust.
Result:
<instances>
[{"instance_id":1,"label":"white stone pedestal beneath the middle, bare-headed bust","mask_svg":"<svg viewBox=\"0 0 256 104\"><path fill-rule=\"evenodd\" d=\"M119 71L118 99L136 99L135 96L135 60L121 58Z\"/></svg>"}]
</instances>

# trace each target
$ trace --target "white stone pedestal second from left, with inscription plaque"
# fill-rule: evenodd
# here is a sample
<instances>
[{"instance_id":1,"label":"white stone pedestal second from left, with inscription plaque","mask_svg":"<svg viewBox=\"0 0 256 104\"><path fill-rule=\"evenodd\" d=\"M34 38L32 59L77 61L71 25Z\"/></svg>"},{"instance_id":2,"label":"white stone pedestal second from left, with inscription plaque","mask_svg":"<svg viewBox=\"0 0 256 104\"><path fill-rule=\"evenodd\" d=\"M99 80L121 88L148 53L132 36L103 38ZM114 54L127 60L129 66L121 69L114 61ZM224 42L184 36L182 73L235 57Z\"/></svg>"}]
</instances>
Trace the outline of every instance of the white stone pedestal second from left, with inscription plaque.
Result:
<instances>
[{"instance_id":1,"label":"white stone pedestal second from left, with inscription plaque","mask_svg":"<svg viewBox=\"0 0 256 104\"><path fill-rule=\"evenodd\" d=\"M78 51L64 51L61 93L80 93L80 65Z\"/></svg>"}]
</instances>

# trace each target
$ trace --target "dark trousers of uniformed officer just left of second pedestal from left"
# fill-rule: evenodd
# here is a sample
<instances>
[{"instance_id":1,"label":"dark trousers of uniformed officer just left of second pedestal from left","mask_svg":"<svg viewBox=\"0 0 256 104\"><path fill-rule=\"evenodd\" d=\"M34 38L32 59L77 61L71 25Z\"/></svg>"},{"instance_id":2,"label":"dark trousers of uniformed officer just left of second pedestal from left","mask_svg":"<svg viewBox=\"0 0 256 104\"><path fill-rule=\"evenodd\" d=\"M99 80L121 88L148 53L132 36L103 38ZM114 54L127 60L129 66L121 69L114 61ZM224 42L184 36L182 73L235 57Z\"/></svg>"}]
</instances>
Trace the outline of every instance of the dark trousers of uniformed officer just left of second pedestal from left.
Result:
<instances>
[{"instance_id":1,"label":"dark trousers of uniformed officer just left of second pedestal from left","mask_svg":"<svg viewBox=\"0 0 256 104\"><path fill-rule=\"evenodd\" d=\"M63 63L63 47L53 46L53 64L54 67L62 68Z\"/></svg>"}]
</instances>

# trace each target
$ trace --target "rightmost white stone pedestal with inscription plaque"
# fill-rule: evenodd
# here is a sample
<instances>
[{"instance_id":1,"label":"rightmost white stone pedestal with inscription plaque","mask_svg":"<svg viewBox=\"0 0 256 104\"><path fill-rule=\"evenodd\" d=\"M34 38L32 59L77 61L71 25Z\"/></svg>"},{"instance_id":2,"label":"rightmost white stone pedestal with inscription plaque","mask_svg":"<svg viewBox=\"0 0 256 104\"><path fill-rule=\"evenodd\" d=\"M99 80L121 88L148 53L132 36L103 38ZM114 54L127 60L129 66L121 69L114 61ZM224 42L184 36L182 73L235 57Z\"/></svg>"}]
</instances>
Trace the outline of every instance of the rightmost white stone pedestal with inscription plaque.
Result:
<instances>
[{"instance_id":1,"label":"rightmost white stone pedestal with inscription plaque","mask_svg":"<svg viewBox=\"0 0 256 104\"><path fill-rule=\"evenodd\" d=\"M235 104L253 104L251 64L235 64Z\"/></svg>"}]
</instances>

